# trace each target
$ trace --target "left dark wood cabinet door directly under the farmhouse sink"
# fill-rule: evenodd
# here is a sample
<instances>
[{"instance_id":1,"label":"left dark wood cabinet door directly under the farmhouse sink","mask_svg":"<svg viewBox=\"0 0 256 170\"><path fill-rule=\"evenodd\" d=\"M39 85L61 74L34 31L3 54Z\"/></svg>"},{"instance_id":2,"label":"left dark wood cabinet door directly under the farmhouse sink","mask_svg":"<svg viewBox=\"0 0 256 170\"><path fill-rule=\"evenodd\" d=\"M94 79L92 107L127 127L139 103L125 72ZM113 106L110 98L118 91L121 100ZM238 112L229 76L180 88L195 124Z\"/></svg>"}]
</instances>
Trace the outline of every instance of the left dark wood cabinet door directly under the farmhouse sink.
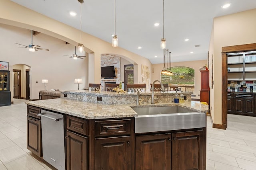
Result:
<instances>
[{"instance_id":1,"label":"left dark wood cabinet door directly under the farmhouse sink","mask_svg":"<svg viewBox=\"0 0 256 170\"><path fill-rule=\"evenodd\" d=\"M136 170L171 169L171 134L136 137Z\"/></svg>"}]
</instances>

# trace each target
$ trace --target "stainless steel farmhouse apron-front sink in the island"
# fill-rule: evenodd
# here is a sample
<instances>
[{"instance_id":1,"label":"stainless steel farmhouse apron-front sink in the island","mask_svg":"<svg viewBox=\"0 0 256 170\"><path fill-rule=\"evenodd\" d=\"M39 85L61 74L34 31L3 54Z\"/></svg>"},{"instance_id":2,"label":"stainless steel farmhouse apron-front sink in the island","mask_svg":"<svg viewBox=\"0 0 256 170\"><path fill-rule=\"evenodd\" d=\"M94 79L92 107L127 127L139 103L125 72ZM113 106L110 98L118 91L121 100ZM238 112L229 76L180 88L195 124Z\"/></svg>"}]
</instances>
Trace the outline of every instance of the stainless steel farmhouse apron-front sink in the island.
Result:
<instances>
[{"instance_id":1,"label":"stainless steel farmhouse apron-front sink in the island","mask_svg":"<svg viewBox=\"0 0 256 170\"><path fill-rule=\"evenodd\" d=\"M135 117L135 133L171 131L206 127L206 113L180 107L132 107Z\"/></svg>"}]
</instances>

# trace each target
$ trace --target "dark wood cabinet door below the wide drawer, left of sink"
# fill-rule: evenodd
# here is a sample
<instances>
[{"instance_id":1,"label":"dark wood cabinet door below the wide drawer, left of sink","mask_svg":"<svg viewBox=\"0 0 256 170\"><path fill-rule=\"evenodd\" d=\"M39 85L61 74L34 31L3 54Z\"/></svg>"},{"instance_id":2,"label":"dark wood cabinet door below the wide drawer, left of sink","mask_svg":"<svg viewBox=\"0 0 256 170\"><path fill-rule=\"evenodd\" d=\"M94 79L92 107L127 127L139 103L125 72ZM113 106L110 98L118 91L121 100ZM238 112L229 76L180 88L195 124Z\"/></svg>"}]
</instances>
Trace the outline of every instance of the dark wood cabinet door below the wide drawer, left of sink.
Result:
<instances>
[{"instance_id":1,"label":"dark wood cabinet door below the wide drawer, left of sink","mask_svg":"<svg viewBox=\"0 0 256 170\"><path fill-rule=\"evenodd\" d=\"M131 137L95 139L96 170L131 170Z\"/></svg>"}]
</instances>

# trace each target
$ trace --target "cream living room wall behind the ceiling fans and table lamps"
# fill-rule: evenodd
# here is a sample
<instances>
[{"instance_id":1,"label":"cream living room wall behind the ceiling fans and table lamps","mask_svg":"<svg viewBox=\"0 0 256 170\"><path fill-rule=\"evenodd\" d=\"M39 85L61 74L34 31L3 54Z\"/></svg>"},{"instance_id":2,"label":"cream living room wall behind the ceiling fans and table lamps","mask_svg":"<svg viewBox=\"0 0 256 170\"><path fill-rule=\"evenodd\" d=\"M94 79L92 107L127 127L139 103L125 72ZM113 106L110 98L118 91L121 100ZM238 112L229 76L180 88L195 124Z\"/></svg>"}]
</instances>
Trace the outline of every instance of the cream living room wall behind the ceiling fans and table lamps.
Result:
<instances>
[{"instance_id":1,"label":"cream living room wall behind the ceiling fans and table lamps","mask_svg":"<svg viewBox=\"0 0 256 170\"><path fill-rule=\"evenodd\" d=\"M74 60L63 56L72 55L75 50L74 45L66 45L65 41L40 33L33 36L33 44L50 49L50 51L30 52L26 48L16 48L22 46L15 43L23 45L31 43L31 31L5 24L0 24L0 36L2 49L0 50L0 61L9 62L11 91L13 86L12 69L22 69L15 64L25 64L28 66L27 68L30 68L30 99L32 100L38 99L38 92L44 89L44 84L41 83L42 79L49 80L46 89L76 90L77 84L74 84L74 78L82 78L81 89L88 83L86 82L88 57ZM23 73L25 71L22 72L22 82L26 80ZM26 97L25 87L22 86L21 88L21 97Z\"/></svg>"}]
</instances>

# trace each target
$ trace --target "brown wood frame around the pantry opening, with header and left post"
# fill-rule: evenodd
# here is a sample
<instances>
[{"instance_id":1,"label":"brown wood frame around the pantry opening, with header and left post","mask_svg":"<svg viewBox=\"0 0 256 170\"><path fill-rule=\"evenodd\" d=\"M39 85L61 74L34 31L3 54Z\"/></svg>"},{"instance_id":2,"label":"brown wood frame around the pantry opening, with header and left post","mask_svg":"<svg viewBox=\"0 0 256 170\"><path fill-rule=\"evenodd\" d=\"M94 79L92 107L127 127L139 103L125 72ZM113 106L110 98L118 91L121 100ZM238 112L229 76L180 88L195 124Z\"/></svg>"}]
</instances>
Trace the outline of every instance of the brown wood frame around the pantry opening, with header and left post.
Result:
<instances>
[{"instance_id":1,"label":"brown wood frame around the pantry opening, with header and left post","mask_svg":"<svg viewBox=\"0 0 256 170\"><path fill-rule=\"evenodd\" d=\"M226 129L228 127L228 57L227 53L238 53L243 51L256 51L256 43L233 45L222 47L222 125L216 125L219 129Z\"/></svg>"}]
</instances>

